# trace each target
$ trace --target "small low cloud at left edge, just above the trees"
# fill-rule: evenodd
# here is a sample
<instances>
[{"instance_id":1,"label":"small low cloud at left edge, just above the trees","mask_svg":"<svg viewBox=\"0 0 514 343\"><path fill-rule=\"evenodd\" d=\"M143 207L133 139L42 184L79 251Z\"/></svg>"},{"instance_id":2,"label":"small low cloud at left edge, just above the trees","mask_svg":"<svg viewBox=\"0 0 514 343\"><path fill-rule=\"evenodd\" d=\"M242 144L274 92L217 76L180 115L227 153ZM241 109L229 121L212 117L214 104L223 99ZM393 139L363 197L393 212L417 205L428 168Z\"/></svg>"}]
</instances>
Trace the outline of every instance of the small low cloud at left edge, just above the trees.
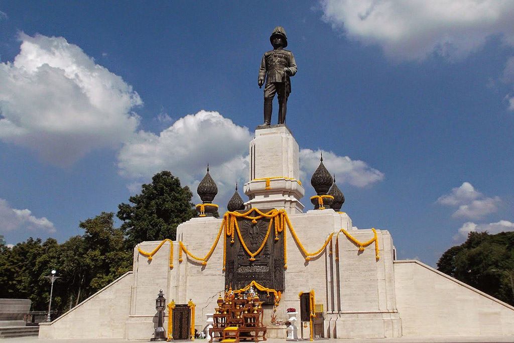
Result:
<instances>
[{"instance_id":1,"label":"small low cloud at left edge, just above the trees","mask_svg":"<svg viewBox=\"0 0 514 343\"><path fill-rule=\"evenodd\" d=\"M0 198L0 231L28 229L31 231L56 232L53 223L45 217L36 218L28 209L11 208L5 199Z\"/></svg>"}]
</instances>

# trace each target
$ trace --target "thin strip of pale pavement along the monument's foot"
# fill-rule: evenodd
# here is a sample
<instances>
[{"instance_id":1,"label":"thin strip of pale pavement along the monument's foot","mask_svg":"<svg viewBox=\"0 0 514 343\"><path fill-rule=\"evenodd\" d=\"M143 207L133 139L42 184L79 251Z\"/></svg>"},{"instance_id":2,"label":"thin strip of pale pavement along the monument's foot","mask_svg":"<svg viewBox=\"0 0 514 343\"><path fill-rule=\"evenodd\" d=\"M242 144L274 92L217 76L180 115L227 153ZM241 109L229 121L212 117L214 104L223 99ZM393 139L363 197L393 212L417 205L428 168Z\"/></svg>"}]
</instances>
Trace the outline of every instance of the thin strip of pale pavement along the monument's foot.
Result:
<instances>
[{"instance_id":1,"label":"thin strip of pale pavement along the monument's foot","mask_svg":"<svg viewBox=\"0 0 514 343\"><path fill-rule=\"evenodd\" d=\"M0 338L1 343L126 343L146 342L148 340L126 340L122 338L81 338L53 339L38 337ZM195 343L207 343L206 339L196 339ZM185 342L185 341L180 341ZM269 338L266 343L287 343L286 339ZM308 343L309 340L300 339ZM317 343L514 343L514 336L446 336L446 337L400 337L400 338L317 338Z\"/></svg>"}]
</instances>

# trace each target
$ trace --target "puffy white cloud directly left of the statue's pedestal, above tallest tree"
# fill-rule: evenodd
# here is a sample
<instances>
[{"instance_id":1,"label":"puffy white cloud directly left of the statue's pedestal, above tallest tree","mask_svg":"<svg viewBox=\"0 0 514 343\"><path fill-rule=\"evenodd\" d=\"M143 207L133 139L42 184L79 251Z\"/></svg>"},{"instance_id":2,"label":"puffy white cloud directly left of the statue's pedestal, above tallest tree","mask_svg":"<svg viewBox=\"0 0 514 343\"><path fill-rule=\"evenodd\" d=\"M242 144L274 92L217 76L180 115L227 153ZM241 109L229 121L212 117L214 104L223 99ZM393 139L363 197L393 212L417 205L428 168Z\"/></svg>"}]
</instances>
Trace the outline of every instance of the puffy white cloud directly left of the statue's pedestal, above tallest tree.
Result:
<instances>
[{"instance_id":1,"label":"puffy white cloud directly left of the statue's pedestal, above tallest tree","mask_svg":"<svg viewBox=\"0 0 514 343\"><path fill-rule=\"evenodd\" d=\"M145 180L169 170L195 193L209 164L219 190L216 199L224 200L233 193L236 182L241 185L248 178L251 138L248 128L217 112L200 111L178 119L159 135L140 131L121 148L118 168L127 178ZM136 185L132 183L131 188L136 189Z\"/></svg>"}]
</instances>

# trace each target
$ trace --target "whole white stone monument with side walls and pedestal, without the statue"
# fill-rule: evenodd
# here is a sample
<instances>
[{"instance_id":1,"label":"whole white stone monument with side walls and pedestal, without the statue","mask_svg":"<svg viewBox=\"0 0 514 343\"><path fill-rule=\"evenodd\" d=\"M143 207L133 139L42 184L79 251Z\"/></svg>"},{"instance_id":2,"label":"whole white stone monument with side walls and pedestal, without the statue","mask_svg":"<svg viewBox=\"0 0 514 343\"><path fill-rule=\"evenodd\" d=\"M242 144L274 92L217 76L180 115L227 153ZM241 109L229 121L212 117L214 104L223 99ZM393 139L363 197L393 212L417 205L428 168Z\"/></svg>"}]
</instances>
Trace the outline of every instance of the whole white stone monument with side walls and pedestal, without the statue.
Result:
<instances>
[{"instance_id":1,"label":"whole white stone monument with side walls and pedestal, without the statue","mask_svg":"<svg viewBox=\"0 0 514 343\"><path fill-rule=\"evenodd\" d=\"M286 338L285 327L272 325L271 316L285 319L287 308L299 309L300 292L309 293L309 306L314 306L307 309L313 316L304 335L446 336L447 341L514 335L512 306L418 261L395 261L387 230L357 229L350 216L328 206L303 212L298 155L285 126L256 130L250 142L246 208L283 210L289 221L284 219L277 237L286 240L287 265L280 301L265 306L267 337ZM42 323L40 337L149 339L160 288L176 304L192 299L194 328L203 330L225 288L224 243L231 243L222 223L221 218L193 218L178 226L176 241L138 244L133 272ZM164 328L170 335L168 317Z\"/></svg>"}]
</instances>

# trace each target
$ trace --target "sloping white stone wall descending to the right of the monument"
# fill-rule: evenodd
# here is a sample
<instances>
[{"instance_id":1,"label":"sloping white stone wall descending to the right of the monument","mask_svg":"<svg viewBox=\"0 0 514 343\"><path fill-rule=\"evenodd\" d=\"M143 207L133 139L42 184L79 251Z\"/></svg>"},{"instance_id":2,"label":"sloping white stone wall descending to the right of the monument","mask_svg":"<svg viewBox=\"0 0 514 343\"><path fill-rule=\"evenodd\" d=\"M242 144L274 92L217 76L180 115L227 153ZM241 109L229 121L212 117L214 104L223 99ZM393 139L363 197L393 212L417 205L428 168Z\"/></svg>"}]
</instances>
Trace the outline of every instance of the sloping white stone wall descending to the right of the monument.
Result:
<instances>
[{"instance_id":1,"label":"sloping white stone wall descending to the right of the monument","mask_svg":"<svg viewBox=\"0 0 514 343\"><path fill-rule=\"evenodd\" d=\"M514 308L419 261L395 261L403 336L514 335Z\"/></svg>"}]
</instances>

